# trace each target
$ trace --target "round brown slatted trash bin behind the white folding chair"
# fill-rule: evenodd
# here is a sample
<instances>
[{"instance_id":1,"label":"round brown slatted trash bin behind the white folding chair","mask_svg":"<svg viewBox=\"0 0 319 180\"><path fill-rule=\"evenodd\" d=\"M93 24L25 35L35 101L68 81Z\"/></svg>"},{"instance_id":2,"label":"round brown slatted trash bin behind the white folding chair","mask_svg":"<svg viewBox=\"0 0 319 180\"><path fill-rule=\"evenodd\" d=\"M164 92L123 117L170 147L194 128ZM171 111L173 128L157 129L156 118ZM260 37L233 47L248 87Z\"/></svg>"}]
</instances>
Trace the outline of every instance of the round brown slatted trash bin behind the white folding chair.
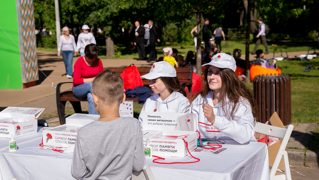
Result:
<instances>
[{"instance_id":1,"label":"round brown slatted trash bin behind the white folding chair","mask_svg":"<svg viewBox=\"0 0 319 180\"><path fill-rule=\"evenodd\" d=\"M259 107L259 122L266 123L277 112L284 126L291 124L291 83L288 75L254 77L254 97Z\"/></svg>"}]
</instances>

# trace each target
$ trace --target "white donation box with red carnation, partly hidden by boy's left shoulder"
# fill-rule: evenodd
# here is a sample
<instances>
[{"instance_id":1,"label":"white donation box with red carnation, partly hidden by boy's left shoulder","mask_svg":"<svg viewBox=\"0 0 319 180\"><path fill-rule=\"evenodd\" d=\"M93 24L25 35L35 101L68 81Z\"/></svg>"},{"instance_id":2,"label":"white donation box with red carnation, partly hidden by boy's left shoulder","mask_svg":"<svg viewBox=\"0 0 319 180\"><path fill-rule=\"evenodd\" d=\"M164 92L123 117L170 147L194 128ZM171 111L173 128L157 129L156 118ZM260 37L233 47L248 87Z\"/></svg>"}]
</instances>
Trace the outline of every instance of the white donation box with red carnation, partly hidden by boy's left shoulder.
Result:
<instances>
[{"instance_id":1,"label":"white donation box with red carnation, partly hidden by boy's left shoulder","mask_svg":"<svg viewBox=\"0 0 319 180\"><path fill-rule=\"evenodd\" d=\"M78 130L93 121L99 120L99 118L100 115L95 114L73 114L65 119L65 125L43 130L43 145L64 148L74 146Z\"/></svg>"}]
</instances>

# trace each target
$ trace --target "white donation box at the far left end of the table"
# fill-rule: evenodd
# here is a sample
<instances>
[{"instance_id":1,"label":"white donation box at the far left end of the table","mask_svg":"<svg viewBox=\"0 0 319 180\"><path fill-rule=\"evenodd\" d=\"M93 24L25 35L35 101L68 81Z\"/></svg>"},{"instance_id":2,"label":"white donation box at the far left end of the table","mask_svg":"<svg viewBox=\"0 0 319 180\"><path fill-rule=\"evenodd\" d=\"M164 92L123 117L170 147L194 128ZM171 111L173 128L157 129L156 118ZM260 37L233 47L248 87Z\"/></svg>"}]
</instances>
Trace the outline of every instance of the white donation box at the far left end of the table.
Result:
<instances>
[{"instance_id":1,"label":"white donation box at the far left end of the table","mask_svg":"<svg viewBox=\"0 0 319 180\"><path fill-rule=\"evenodd\" d=\"M0 137L11 138L37 132L38 121L44 108L7 107L0 112Z\"/></svg>"}]
</instances>

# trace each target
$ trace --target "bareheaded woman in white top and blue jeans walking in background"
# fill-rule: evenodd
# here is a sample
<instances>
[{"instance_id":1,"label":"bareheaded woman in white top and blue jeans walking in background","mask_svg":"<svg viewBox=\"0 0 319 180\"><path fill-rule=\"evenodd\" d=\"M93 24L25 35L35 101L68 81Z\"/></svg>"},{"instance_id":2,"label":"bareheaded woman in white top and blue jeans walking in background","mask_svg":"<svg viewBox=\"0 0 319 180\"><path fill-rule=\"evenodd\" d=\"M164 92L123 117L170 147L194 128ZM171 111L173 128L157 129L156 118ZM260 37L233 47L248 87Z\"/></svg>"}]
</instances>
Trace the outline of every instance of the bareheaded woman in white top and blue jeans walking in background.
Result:
<instances>
[{"instance_id":1,"label":"bareheaded woman in white top and blue jeans walking in background","mask_svg":"<svg viewBox=\"0 0 319 180\"><path fill-rule=\"evenodd\" d=\"M60 57L61 48L62 48L62 57L65 65L66 77L73 77L73 55L74 51L76 51L75 55L77 56L77 47L75 44L75 38L72 34L70 34L69 27L65 26L62 28L63 35L60 36L59 44L57 45L57 56ZM74 51L73 51L74 50Z\"/></svg>"}]
</instances>

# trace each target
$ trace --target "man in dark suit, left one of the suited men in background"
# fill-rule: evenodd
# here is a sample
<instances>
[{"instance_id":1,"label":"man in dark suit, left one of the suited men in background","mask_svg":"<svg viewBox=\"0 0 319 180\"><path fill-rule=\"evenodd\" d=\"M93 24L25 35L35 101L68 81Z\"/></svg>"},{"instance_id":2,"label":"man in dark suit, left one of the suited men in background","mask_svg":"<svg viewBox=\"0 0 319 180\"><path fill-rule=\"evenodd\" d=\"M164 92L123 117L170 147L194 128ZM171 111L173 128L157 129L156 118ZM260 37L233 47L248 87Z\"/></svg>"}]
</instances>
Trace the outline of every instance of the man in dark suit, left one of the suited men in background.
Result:
<instances>
[{"instance_id":1,"label":"man in dark suit, left one of the suited men in background","mask_svg":"<svg viewBox=\"0 0 319 180\"><path fill-rule=\"evenodd\" d=\"M134 46L136 46L138 52L138 60L145 60L146 53L144 49L144 34L145 30L143 26L139 26L139 22L135 22L135 38L134 38Z\"/></svg>"}]
</instances>

